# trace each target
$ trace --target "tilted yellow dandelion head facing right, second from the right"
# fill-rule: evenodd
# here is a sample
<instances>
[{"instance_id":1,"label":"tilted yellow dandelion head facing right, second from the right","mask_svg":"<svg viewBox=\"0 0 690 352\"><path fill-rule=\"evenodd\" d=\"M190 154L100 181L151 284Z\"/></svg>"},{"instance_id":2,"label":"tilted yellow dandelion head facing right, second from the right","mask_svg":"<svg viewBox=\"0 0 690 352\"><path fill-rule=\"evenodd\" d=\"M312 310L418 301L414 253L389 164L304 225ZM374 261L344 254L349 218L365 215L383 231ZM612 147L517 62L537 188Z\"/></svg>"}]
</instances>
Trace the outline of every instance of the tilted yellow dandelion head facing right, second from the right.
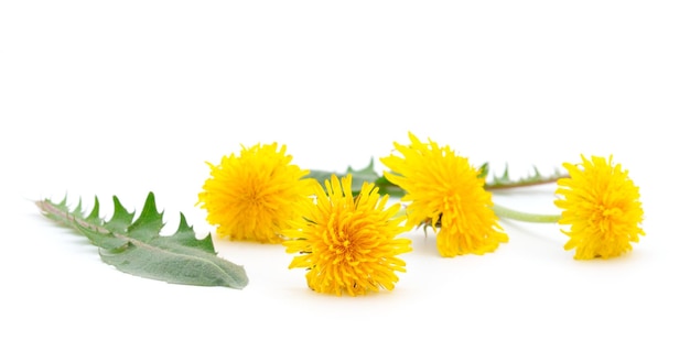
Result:
<instances>
[{"instance_id":1,"label":"tilted yellow dandelion head facing right, second from the right","mask_svg":"<svg viewBox=\"0 0 690 352\"><path fill-rule=\"evenodd\" d=\"M395 143L401 156L381 158L390 168L385 177L405 189L401 200L410 202L408 227L434 224L442 256L484 254L508 242L479 170L449 146L440 147L431 140L422 143L412 133L409 138L410 145ZM435 227L439 221L440 230Z\"/></svg>"}]
</instances>

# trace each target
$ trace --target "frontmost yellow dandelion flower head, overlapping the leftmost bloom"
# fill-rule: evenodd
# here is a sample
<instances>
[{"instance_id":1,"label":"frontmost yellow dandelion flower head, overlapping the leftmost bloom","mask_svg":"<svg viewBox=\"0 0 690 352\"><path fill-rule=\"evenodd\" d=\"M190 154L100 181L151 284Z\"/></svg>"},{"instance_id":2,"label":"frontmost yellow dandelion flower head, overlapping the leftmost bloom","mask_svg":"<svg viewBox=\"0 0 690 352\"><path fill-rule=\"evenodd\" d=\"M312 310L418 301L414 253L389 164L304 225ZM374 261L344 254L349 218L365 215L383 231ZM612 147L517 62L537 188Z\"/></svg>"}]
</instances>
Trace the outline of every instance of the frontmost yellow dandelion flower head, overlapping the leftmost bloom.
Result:
<instances>
[{"instance_id":1,"label":"frontmost yellow dandelion flower head, overlapping the leftmost bloom","mask_svg":"<svg viewBox=\"0 0 690 352\"><path fill-rule=\"evenodd\" d=\"M397 255L412 248L409 239L397 238L405 231L403 219L396 217L400 205L386 208L387 200L368 183L353 197L352 175L342 184L333 175L325 190L316 187L315 201L300 207L303 218L285 231L285 251L301 254L290 268L306 268L306 283L317 293L357 296L393 289L396 272L406 271Z\"/></svg>"}]
</instances>

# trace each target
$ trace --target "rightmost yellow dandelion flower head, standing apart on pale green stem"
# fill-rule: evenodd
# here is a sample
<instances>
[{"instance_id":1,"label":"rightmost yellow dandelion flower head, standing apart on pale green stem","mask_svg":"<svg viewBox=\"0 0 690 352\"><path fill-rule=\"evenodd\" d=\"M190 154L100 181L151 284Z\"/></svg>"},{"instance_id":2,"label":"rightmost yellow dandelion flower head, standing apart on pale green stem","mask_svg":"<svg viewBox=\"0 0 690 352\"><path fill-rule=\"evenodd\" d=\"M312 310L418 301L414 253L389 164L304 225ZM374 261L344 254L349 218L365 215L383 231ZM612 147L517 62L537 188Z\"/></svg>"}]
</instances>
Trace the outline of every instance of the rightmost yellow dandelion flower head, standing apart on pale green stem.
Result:
<instances>
[{"instance_id":1,"label":"rightmost yellow dandelion flower head, standing apart on pale green stem","mask_svg":"<svg viewBox=\"0 0 690 352\"><path fill-rule=\"evenodd\" d=\"M565 250L575 249L575 258L618 256L632 250L645 232L639 227L643 208L639 189L613 157L582 157L582 164L569 164L570 178L558 180L556 206L563 209L560 224L570 240Z\"/></svg>"}]
</instances>

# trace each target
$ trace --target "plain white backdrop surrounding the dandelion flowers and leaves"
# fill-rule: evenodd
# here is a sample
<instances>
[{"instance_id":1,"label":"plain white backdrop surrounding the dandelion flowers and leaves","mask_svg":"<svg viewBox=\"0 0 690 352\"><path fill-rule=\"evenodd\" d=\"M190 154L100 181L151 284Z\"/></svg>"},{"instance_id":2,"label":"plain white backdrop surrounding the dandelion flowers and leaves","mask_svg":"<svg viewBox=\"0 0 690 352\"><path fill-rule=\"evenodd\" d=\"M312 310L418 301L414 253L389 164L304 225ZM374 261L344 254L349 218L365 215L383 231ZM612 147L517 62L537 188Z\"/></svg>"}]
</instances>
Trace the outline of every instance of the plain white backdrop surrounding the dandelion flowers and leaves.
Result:
<instances>
[{"instance_id":1,"label":"plain white backdrop surrounding the dandelion flowers and leaves","mask_svg":"<svg viewBox=\"0 0 690 352\"><path fill-rule=\"evenodd\" d=\"M1 2L0 350L687 351L686 3ZM165 233L179 212L208 233L205 162L278 142L343 172L408 131L515 176L613 154L647 235L580 262L554 224L502 221L509 243L454 258L412 231L395 290L337 298L280 245L217 242L242 290L129 276L32 204L152 190ZM495 200L557 211L552 190Z\"/></svg>"}]
</instances>

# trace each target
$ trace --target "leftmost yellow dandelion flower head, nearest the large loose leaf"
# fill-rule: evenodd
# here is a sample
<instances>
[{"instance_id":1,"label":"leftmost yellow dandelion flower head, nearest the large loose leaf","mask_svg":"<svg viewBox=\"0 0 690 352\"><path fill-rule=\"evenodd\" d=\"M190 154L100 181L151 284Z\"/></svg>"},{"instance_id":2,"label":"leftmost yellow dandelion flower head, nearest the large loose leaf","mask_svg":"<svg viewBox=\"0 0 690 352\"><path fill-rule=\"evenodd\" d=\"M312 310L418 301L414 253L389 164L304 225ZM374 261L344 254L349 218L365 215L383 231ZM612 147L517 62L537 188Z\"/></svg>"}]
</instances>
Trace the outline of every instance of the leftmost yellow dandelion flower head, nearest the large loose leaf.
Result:
<instances>
[{"instance_id":1,"label":"leftmost yellow dandelion flower head, nearest the large loose leaf","mask_svg":"<svg viewBox=\"0 0 690 352\"><path fill-rule=\"evenodd\" d=\"M224 156L211 166L198 204L219 237L267 243L282 241L281 231L299 218L294 205L310 201L313 179L309 170L292 165L285 146L242 146L239 156Z\"/></svg>"}]
</instances>

